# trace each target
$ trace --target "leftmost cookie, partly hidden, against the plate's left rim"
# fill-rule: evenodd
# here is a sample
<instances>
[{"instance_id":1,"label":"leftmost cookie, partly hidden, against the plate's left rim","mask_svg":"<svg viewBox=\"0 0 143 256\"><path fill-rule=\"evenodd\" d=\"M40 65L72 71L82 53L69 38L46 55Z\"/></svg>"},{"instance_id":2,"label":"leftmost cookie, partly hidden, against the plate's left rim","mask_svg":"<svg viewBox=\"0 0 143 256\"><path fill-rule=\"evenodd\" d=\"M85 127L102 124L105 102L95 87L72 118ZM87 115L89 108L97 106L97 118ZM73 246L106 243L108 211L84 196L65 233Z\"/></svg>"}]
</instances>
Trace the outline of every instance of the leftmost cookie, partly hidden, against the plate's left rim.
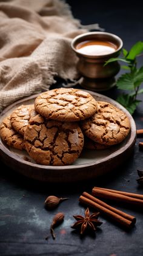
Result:
<instances>
[{"instance_id":1,"label":"leftmost cookie, partly hidden, against the plate's left rim","mask_svg":"<svg viewBox=\"0 0 143 256\"><path fill-rule=\"evenodd\" d=\"M1 139L10 147L17 148L18 150L24 150L25 144L24 139L21 134L18 134L13 130L10 116L6 117L0 126L0 136Z\"/></svg>"}]
</instances>

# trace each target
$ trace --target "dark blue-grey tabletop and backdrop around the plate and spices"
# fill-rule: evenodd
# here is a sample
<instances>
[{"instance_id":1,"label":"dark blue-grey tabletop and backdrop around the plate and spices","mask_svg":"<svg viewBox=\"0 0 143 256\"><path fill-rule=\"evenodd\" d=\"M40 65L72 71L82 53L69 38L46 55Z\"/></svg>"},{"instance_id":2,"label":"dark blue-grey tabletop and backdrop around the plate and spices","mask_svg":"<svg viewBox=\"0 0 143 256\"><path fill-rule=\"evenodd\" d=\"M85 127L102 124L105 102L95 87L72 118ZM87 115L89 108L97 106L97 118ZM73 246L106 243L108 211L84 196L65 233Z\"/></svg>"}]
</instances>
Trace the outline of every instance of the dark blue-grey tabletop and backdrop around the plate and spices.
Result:
<instances>
[{"instance_id":1,"label":"dark blue-grey tabletop and backdrop around the plate and spices","mask_svg":"<svg viewBox=\"0 0 143 256\"><path fill-rule=\"evenodd\" d=\"M138 1L67 1L71 5L73 16L82 24L98 22L106 32L120 36L125 49L143 40L143 15ZM142 57L138 59L142 64ZM121 73L120 73L121 74ZM59 84L58 84L59 86ZM103 93L103 92L102 92ZM111 89L104 94L116 99L119 91ZM143 99L140 96L140 99ZM143 104L138 106L133 115L137 128L143 128ZM33 181L7 170L1 162L0 175L0 255L105 255L134 256L143 254L143 222L142 210L122 204L112 205L137 219L136 226L125 231L104 216L103 222L95 235L80 237L70 226L75 222L73 215L84 215L84 207L78 203L82 192L91 192L93 186L127 192L143 193L138 185L136 170L143 169L143 152L139 151L137 139L135 150L130 159L122 166L101 178L76 184L43 184ZM44 209L44 201L48 195L68 196L68 201L55 210ZM56 240L45 237L53 215L65 213L65 220L55 229ZM91 211L92 212L92 211Z\"/></svg>"}]
</instances>

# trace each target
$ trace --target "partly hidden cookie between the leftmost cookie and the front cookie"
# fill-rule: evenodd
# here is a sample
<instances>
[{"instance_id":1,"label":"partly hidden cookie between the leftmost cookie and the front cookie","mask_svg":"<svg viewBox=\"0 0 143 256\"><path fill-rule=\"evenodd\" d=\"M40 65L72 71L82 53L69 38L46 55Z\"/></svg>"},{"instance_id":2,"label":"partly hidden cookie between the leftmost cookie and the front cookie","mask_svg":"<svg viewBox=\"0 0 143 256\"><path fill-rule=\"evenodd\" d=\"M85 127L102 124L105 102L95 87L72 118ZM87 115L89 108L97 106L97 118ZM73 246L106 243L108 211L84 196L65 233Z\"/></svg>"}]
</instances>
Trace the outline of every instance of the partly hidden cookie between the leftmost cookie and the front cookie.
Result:
<instances>
[{"instance_id":1,"label":"partly hidden cookie between the leftmost cookie and the front cookie","mask_svg":"<svg viewBox=\"0 0 143 256\"><path fill-rule=\"evenodd\" d=\"M30 119L30 112L34 108L34 105L21 105L16 108L11 116L10 121L13 128L22 136L24 136L25 129L28 125L28 120Z\"/></svg>"}]
</instances>

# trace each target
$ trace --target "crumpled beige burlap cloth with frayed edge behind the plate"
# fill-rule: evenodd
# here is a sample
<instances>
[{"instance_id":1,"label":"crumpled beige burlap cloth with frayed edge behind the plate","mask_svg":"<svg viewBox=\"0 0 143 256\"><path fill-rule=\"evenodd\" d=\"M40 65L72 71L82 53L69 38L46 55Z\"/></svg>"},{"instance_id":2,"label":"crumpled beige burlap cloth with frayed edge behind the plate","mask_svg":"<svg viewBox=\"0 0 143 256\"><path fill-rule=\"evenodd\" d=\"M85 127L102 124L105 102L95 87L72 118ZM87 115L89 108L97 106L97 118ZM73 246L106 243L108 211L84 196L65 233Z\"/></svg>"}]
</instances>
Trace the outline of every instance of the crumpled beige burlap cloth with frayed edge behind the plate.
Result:
<instances>
[{"instance_id":1,"label":"crumpled beige burlap cloth with frayed edge behind the plate","mask_svg":"<svg viewBox=\"0 0 143 256\"><path fill-rule=\"evenodd\" d=\"M56 76L75 80L70 43L84 32L61 0L0 1L0 112L48 90Z\"/></svg>"}]
</instances>

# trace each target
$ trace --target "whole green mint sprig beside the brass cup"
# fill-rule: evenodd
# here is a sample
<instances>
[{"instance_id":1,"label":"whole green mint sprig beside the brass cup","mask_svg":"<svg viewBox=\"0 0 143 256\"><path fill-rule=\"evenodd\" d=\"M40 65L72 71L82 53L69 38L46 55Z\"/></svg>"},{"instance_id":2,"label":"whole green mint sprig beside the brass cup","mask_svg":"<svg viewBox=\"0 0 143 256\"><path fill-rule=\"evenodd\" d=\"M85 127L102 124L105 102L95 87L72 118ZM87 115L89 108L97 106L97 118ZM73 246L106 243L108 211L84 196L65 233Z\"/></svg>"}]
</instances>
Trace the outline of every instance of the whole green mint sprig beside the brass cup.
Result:
<instances>
[{"instance_id":1,"label":"whole green mint sprig beside the brass cup","mask_svg":"<svg viewBox=\"0 0 143 256\"><path fill-rule=\"evenodd\" d=\"M116 99L121 105L123 105L130 114L135 112L136 107L139 105L141 100L137 99L138 94L143 93L143 89L139 89L143 82L143 66L137 68L136 57L139 57L143 53L143 42L139 41L134 44L130 51L122 49L123 57L110 58L106 61L105 65L113 61L122 61L126 65L121 66L122 69L127 70L125 74L122 74L117 80L117 87L119 89L129 91L128 94L121 94Z\"/></svg>"}]
</instances>

